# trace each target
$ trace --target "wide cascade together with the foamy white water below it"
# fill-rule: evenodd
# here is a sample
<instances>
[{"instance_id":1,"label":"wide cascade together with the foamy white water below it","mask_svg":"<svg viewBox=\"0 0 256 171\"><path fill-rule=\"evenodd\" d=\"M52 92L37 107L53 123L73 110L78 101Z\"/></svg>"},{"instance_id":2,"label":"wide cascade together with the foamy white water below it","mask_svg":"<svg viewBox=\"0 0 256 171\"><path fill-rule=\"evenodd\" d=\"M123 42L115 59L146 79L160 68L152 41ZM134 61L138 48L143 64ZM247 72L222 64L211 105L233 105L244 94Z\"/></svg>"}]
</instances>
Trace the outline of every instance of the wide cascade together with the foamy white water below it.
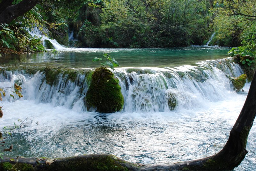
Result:
<instances>
[{"instance_id":1,"label":"wide cascade together with the foamy white water below it","mask_svg":"<svg viewBox=\"0 0 256 171\"><path fill-rule=\"evenodd\" d=\"M84 100L91 69L38 70L34 74L0 70L0 87L20 83L24 95L4 98L8 117L1 119L2 125L26 117L39 123L28 122L15 131L8 143L22 145L11 156L112 153L143 164L209 156L225 144L249 89L247 83L244 93L233 90L227 75L237 77L243 71L231 59L173 68L118 68L114 74L120 81L124 108L99 114L88 112ZM12 94L11 89L6 94ZM253 130L255 125L255 135ZM254 140L248 138L249 148L254 148ZM243 168L250 170L255 153L249 155Z\"/></svg>"}]
</instances>

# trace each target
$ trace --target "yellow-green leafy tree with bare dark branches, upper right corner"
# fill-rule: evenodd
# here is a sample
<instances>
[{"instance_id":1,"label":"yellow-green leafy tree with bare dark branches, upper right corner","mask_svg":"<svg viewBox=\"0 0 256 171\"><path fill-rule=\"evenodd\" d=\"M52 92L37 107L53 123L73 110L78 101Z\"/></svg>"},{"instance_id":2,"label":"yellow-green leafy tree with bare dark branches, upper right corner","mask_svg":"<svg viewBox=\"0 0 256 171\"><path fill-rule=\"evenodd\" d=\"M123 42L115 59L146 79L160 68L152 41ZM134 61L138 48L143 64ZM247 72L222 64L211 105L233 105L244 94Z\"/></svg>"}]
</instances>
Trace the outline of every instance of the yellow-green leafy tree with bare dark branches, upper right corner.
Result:
<instances>
[{"instance_id":1,"label":"yellow-green leafy tree with bare dark branches, upper right corner","mask_svg":"<svg viewBox=\"0 0 256 171\"><path fill-rule=\"evenodd\" d=\"M221 46L239 46L244 40L245 32L248 34L250 30L250 33L254 33L255 5L254 0L215 0L214 8L211 10L215 16L215 42Z\"/></svg>"}]
</instances>

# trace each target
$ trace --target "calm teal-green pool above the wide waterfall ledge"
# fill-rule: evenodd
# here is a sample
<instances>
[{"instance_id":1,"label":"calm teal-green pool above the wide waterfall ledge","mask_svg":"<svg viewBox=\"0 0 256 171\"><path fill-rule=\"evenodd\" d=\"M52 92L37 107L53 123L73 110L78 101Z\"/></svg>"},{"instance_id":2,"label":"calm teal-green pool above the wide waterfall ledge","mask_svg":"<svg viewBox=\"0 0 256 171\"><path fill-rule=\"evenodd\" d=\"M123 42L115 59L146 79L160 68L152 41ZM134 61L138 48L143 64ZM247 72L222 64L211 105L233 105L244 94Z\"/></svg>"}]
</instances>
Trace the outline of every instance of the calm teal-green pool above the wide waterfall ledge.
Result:
<instances>
[{"instance_id":1,"label":"calm teal-green pool above the wide waterfall ledge","mask_svg":"<svg viewBox=\"0 0 256 171\"><path fill-rule=\"evenodd\" d=\"M33 53L3 56L1 64L52 65L71 68L95 68L100 63L92 62L94 57L108 53L114 57L120 67L173 67L195 65L198 61L225 58L228 48L191 46L187 48L145 48L145 49L109 49L109 48L68 48L53 54Z\"/></svg>"}]
</instances>

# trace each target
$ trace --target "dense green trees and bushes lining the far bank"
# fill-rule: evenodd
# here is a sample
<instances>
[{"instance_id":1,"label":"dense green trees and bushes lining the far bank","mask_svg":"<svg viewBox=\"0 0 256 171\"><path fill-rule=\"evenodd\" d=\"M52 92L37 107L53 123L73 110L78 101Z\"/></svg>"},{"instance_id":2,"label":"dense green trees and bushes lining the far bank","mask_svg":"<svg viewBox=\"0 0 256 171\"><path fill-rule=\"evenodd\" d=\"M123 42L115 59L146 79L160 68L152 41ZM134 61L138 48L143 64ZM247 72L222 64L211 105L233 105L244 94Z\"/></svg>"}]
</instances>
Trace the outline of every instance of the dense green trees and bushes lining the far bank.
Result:
<instances>
[{"instance_id":1,"label":"dense green trees and bushes lining the far bank","mask_svg":"<svg viewBox=\"0 0 256 171\"><path fill-rule=\"evenodd\" d=\"M69 44L68 32L73 31L77 47L204 45L215 32L211 45L255 48L255 4L253 0L44 0L1 25L0 45L42 51L41 40L28 33L38 27L63 45Z\"/></svg>"}]
</instances>

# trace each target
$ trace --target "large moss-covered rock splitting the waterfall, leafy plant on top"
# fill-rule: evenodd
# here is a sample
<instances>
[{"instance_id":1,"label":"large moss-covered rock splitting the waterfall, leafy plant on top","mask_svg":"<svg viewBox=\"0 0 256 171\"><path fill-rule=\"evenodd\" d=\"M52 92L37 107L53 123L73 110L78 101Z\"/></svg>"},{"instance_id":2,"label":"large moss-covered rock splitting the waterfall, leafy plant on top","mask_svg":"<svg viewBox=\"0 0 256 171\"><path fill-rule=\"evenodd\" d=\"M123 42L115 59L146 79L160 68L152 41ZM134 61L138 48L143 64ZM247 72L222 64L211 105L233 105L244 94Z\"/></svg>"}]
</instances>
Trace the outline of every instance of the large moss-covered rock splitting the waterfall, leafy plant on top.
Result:
<instances>
[{"instance_id":1,"label":"large moss-covered rock splitting the waterfall, leafy plant on top","mask_svg":"<svg viewBox=\"0 0 256 171\"><path fill-rule=\"evenodd\" d=\"M92 74L92 83L86 93L88 107L97 108L100 113L120 111L124 97L118 79L106 68L97 68Z\"/></svg>"}]
</instances>

